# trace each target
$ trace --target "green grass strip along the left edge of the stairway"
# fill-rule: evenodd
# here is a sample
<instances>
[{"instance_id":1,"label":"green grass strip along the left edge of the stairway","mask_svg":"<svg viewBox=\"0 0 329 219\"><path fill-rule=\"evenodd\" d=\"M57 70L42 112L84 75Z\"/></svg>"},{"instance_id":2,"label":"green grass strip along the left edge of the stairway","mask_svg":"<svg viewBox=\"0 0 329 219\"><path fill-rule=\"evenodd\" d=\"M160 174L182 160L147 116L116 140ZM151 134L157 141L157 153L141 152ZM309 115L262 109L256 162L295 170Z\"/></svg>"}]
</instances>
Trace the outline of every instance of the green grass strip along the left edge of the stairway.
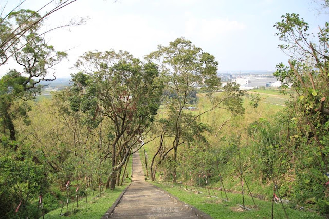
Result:
<instances>
[{"instance_id":1,"label":"green grass strip along the left edge of the stairway","mask_svg":"<svg viewBox=\"0 0 329 219\"><path fill-rule=\"evenodd\" d=\"M127 166L127 173L130 177L132 174L132 165L133 165L133 156L129 158L129 163ZM124 168L124 167L123 167ZM123 170L122 170L123 174ZM101 218L105 212L113 205L115 200L119 197L121 192L127 187L130 180L125 178L122 186L117 186L115 190L107 189L104 191L101 197L93 198L93 195L90 194L87 198L80 198L77 202L75 200L70 200L68 204L68 216L69 218ZM90 193L90 191L89 191ZM95 191L95 196L98 194L98 191ZM66 205L64 205L62 214L66 212ZM45 218L58 218L61 213L61 208L53 210L44 215Z\"/></svg>"}]
</instances>

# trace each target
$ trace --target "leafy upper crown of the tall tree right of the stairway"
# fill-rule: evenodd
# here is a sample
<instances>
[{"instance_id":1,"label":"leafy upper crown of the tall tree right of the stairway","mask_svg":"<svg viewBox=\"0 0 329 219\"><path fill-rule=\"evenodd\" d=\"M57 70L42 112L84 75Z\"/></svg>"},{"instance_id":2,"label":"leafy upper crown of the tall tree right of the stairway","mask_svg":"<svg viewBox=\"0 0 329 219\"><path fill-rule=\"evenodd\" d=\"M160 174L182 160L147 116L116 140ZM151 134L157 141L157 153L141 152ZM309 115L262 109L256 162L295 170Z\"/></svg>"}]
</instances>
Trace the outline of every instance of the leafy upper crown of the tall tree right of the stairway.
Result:
<instances>
[{"instance_id":1,"label":"leafy upper crown of the tall tree right of the stairway","mask_svg":"<svg viewBox=\"0 0 329 219\"><path fill-rule=\"evenodd\" d=\"M191 41L177 38L169 46L158 46L158 50L146 56L158 64L165 83L174 89L177 96L197 90L214 91L220 87L217 77L218 62L209 53L202 52Z\"/></svg>"}]
</instances>

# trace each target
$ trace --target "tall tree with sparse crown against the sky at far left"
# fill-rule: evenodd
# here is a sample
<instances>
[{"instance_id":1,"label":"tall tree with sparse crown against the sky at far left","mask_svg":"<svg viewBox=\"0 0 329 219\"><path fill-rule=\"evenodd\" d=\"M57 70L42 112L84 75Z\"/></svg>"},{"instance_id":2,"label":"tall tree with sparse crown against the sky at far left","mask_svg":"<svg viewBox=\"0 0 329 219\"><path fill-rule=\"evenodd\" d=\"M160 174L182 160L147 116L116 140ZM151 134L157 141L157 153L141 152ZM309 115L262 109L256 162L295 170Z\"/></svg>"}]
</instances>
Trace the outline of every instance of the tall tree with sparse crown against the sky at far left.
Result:
<instances>
[{"instance_id":1,"label":"tall tree with sparse crown against the sky at far left","mask_svg":"<svg viewBox=\"0 0 329 219\"><path fill-rule=\"evenodd\" d=\"M38 13L30 10L20 10L8 15L8 19L13 19L17 26L23 27L29 17L40 17ZM40 93L42 86L41 81L52 81L56 79L46 79L48 70L62 61L67 56L65 52L57 52L53 46L45 43L45 39L38 36L41 23L30 27L24 34L21 34L20 43L11 44L6 50L11 52L11 56L24 69L22 73L16 70L10 71L6 76L1 78L1 116L3 117L2 125L9 129L10 139L16 140L16 131L12 118L16 117L15 111L11 111L13 105L16 105L17 99L27 101L34 99ZM22 46L23 44L23 46ZM21 48L20 48L21 47ZM6 55L6 60L8 59ZM25 110L23 108L25 107ZM26 114L28 108L19 105L19 111ZM23 110L23 111L22 111Z\"/></svg>"}]
</instances>

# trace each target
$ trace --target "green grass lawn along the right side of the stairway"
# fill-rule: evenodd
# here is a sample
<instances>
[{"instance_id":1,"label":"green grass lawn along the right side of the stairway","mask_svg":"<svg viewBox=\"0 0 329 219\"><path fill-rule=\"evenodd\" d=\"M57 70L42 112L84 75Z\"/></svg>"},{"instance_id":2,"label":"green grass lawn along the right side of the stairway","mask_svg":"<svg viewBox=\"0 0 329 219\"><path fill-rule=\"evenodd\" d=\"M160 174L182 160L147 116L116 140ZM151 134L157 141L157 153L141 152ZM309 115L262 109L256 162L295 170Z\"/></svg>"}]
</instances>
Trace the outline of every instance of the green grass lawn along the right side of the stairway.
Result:
<instances>
[{"instance_id":1,"label":"green grass lawn along the right side of the stairway","mask_svg":"<svg viewBox=\"0 0 329 219\"><path fill-rule=\"evenodd\" d=\"M242 205L242 195L227 193L229 202L221 201L221 192L215 191L216 196L219 198L208 197L204 188L201 188L200 191L203 194L196 194L196 192L191 192L185 190L184 186L181 188L179 186L172 187L171 185L165 185L161 183L153 183L154 185L166 190L172 195L179 198L180 201L183 201L189 205L196 207L197 209L209 214L212 218L270 218L271 217L271 208L272 202L262 201L254 198L257 208L254 207L252 199L249 195L245 194L245 205L248 208L251 208L251 211L242 211L237 204ZM195 187L193 187L195 189ZM211 195L213 191L210 190ZM245 191L247 192L247 190ZM223 197L225 196L223 192ZM289 218L322 218L316 213L298 211L289 208L285 205L287 214ZM274 217L275 218L285 218L285 214L281 204L275 204L274 206Z\"/></svg>"}]
</instances>

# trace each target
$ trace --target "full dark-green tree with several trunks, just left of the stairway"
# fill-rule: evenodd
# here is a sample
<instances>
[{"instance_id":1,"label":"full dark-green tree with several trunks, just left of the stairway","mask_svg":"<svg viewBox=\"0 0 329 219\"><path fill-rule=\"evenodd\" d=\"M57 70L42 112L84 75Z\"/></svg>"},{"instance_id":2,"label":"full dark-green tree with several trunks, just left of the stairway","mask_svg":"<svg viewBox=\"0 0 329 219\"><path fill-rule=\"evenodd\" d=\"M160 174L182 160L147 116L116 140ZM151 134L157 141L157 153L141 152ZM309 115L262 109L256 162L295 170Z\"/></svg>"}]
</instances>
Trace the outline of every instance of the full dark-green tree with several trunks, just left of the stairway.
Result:
<instances>
[{"instance_id":1,"label":"full dark-green tree with several trunks, just left of the stairway","mask_svg":"<svg viewBox=\"0 0 329 219\"><path fill-rule=\"evenodd\" d=\"M154 121L162 95L155 64L142 63L128 52L87 52L75 64L80 70L73 75L76 96L71 107L88 113L89 121L97 116L112 121L107 135L106 158L111 155L111 174L106 188L115 188L121 167L141 134Z\"/></svg>"}]
</instances>

